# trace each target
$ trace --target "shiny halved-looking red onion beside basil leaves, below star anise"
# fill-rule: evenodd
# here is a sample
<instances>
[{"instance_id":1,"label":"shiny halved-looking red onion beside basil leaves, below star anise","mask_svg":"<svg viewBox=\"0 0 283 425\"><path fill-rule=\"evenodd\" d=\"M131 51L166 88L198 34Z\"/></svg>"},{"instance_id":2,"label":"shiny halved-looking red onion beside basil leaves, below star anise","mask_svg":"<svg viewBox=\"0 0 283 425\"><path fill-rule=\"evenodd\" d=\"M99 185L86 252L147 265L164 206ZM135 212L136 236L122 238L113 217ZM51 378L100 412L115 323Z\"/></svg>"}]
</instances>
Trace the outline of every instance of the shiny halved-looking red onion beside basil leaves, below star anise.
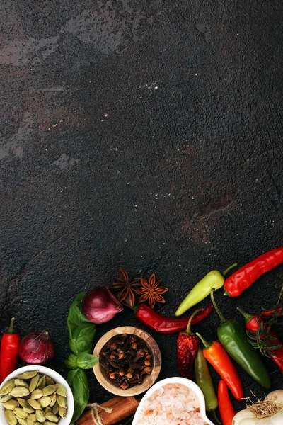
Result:
<instances>
[{"instance_id":1,"label":"shiny halved-looking red onion beside basil leaves, below star anise","mask_svg":"<svg viewBox=\"0 0 283 425\"><path fill-rule=\"evenodd\" d=\"M88 291L81 302L83 314L93 323L109 322L124 307L112 294L108 286Z\"/></svg>"}]
</instances>

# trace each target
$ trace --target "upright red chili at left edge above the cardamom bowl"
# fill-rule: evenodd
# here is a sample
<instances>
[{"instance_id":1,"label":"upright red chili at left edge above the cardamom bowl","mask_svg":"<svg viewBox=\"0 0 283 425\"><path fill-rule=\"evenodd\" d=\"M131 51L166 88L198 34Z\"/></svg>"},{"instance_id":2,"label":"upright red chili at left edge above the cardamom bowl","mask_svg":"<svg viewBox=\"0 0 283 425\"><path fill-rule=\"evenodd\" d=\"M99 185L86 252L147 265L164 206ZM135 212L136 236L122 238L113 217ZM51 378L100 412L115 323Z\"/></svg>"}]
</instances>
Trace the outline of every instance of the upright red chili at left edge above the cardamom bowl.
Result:
<instances>
[{"instance_id":1,"label":"upright red chili at left edge above the cardamom bowl","mask_svg":"<svg viewBox=\"0 0 283 425\"><path fill-rule=\"evenodd\" d=\"M13 333L13 322L15 317L11 319L10 327L6 334L3 335L1 341L0 352L0 383L17 368L18 365L18 349L21 344L21 336Z\"/></svg>"}]
</instances>

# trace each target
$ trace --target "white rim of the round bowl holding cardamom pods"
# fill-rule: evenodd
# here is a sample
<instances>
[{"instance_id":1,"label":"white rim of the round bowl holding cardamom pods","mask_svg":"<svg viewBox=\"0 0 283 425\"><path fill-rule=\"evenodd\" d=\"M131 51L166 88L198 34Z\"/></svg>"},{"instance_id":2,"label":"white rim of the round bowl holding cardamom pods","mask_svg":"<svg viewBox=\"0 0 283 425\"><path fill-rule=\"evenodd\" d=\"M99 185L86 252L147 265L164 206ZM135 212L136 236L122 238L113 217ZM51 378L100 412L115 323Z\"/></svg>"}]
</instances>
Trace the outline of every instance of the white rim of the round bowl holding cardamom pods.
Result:
<instances>
[{"instance_id":1,"label":"white rim of the round bowl holding cardamom pods","mask_svg":"<svg viewBox=\"0 0 283 425\"><path fill-rule=\"evenodd\" d=\"M59 375L59 373L55 372L55 370L52 370L50 368L45 368L45 366L40 366L40 365L24 366L23 368L16 369L12 373L10 373L10 375L8 375L7 378L2 382L0 388L8 380L16 378L16 375L19 375L20 373L28 372L29 370L38 370L39 373L42 373L42 375L47 375L50 378L52 378L57 384L64 385L64 387L67 390L67 404L68 404L67 416L65 418L60 419L59 422L57 423L58 425L70 425L71 418L73 417L73 414L74 414L74 397L67 381L64 380L64 378L61 375ZM2 406L1 402L0 402L0 424L8 425L8 422L6 421L4 416L4 407Z\"/></svg>"}]
</instances>

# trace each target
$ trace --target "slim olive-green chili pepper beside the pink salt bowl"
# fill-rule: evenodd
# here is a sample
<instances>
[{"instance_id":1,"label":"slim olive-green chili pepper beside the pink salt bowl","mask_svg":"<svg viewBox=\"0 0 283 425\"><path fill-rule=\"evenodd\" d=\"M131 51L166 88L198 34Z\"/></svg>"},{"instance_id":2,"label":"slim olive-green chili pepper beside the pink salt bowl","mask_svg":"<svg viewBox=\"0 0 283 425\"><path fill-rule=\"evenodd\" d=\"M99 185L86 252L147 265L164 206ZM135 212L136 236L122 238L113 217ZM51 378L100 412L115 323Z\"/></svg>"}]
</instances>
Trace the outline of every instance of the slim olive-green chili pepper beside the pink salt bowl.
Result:
<instances>
[{"instance_id":1,"label":"slim olive-green chili pepper beside the pink salt bowl","mask_svg":"<svg viewBox=\"0 0 283 425\"><path fill-rule=\"evenodd\" d=\"M195 357L195 380L204 395L206 411L211 413L217 423L220 424L215 413L218 407L217 397L212 383L212 377L209 373L207 361L202 354L202 348L197 350L197 356Z\"/></svg>"}]
</instances>

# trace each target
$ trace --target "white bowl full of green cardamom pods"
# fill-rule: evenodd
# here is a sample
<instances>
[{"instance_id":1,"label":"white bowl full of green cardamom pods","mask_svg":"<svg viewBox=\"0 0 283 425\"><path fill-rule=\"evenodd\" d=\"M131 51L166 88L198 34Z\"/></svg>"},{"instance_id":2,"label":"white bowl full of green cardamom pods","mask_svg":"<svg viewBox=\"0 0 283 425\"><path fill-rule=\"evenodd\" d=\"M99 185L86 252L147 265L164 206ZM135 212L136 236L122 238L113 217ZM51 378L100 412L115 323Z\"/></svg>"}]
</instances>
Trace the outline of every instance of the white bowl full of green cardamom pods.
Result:
<instances>
[{"instance_id":1,"label":"white bowl full of green cardamom pods","mask_svg":"<svg viewBox=\"0 0 283 425\"><path fill-rule=\"evenodd\" d=\"M71 388L59 373L45 366L30 365L14 370L2 382L0 397L1 425L32 424L34 417L40 423L71 424L74 414Z\"/></svg>"}]
</instances>

